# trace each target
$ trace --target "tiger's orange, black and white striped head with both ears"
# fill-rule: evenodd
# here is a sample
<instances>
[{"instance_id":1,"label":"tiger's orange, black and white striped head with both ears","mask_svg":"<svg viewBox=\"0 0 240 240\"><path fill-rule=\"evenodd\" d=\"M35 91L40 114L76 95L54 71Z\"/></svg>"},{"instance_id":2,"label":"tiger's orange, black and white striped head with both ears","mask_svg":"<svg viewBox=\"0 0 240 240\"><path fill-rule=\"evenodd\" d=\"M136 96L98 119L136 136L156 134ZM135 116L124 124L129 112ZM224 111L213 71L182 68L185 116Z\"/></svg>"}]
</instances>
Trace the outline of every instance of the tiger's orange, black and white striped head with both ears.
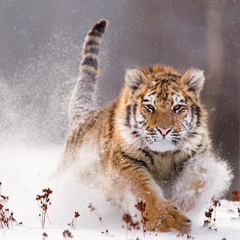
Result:
<instances>
[{"instance_id":1,"label":"tiger's orange, black and white striped head with both ears","mask_svg":"<svg viewBox=\"0 0 240 240\"><path fill-rule=\"evenodd\" d=\"M184 75L160 65L129 69L121 135L131 145L156 152L197 148L206 130L207 114L199 99L203 84L203 71L198 69Z\"/></svg>"}]
</instances>

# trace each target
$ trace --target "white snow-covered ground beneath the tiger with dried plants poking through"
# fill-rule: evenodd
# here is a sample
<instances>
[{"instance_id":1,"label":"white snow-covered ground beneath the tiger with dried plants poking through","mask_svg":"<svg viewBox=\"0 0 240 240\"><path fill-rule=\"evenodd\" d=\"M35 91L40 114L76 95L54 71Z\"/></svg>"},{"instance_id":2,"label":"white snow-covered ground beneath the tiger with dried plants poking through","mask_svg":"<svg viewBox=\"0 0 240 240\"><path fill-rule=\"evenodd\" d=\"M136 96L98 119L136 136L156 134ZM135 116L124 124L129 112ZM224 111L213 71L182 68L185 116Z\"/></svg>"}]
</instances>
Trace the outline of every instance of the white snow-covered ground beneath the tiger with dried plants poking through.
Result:
<instances>
[{"instance_id":1,"label":"white snow-covered ground beneath the tiger with dried plants poking through","mask_svg":"<svg viewBox=\"0 0 240 240\"><path fill-rule=\"evenodd\" d=\"M238 240L240 239L239 202L221 201L216 208L215 229L203 227L204 210L193 218L192 232L187 235L171 233L147 233L141 230L127 231L122 227L123 212L103 200L97 190L87 190L76 185L71 175L57 180L57 162L62 147L0 147L0 194L8 196L7 207L21 225L13 224L9 229L0 229L0 240L60 240L69 230L73 239L194 239L194 240ZM51 205L45 228L41 227L36 195L50 188ZM81 189L81 191L79 191ZM96 208L90 211L89 203ZM206 209L207 210L207 209ZM68 226L74 212L80 213L76 228ZM101 221L100 219L101 218ZM0 225L1 226L1 225ZM43 233L48 236L43 237Z\"/></svg>"}]
</instances>

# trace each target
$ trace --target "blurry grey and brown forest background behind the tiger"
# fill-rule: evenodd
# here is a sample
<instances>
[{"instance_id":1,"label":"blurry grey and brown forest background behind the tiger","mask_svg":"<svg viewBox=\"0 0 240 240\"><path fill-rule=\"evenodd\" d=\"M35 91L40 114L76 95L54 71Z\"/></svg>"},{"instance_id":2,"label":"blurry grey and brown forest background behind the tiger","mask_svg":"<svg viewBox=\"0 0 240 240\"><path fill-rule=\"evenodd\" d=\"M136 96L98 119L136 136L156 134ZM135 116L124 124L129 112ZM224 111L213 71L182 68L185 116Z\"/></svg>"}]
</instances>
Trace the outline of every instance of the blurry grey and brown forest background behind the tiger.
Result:
<instances>
[{"instance_id":1,"label":"blurry grey and brown forest background behind the tiger","mask_svg":"<svg viewBox=\"0 0 240 240\"><path fill-rule=\"evenodd\" d=\"M213 143L240 190L239 12L239 0L0 0L0 144L64 143L84 37L106 18L99 105L126 68L203 69Z\"/></svg>"}]
</instances>

